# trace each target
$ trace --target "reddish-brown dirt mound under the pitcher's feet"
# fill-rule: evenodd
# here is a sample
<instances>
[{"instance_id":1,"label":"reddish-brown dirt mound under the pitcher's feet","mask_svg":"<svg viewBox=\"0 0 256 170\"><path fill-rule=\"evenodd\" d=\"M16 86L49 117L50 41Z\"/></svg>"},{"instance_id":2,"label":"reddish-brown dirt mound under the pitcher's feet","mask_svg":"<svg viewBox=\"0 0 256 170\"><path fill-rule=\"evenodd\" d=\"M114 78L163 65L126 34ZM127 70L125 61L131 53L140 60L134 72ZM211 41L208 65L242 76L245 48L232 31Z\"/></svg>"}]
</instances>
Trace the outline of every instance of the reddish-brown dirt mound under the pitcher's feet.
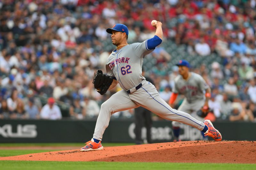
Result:
<instances>
[{"instance_id":1,"label":"reddish-brown dirt mound under the pitcher's feet","mask_svg":"<svg viewBox=\"0 0 256 170\"><path fill-rule=\"evenodd\" d=\"M104 144L103 144L104 145ZM255 141L186 141L34 153L0 160L256 163Z\"/></svg>"}]
</instances>

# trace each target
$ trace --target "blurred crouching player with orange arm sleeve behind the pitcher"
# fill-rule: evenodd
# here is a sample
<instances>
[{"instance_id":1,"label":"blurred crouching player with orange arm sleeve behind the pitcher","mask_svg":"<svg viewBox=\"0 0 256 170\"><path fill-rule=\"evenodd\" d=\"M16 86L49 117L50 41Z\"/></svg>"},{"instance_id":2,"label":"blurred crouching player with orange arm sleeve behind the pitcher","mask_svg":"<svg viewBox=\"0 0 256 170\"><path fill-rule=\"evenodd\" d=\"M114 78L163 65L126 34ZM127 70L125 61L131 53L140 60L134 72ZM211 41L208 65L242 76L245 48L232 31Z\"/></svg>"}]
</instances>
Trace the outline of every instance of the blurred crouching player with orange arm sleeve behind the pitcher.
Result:
<instances>
[{"instance_id":1,"label":"blurred crouching player with orange arm sleeve behind the pitcher","mask_svg":"<svg viewBox=\"0 0 256 170\"><path fill-rule=\"evenodd\" d=\"M183 94L185 99L178 108L179 111L193 114L198 120L203 121L209 110L208 100L211 97L211 88L206 84L204 78L199 74L189 71L189 63L187 60L180 60L178 64L180 75L174 79L174 87L169 100L169 105L173 107L178 94ZM205 96L205 97L204 97ZM199 117L196 112L203 110ZM205 114L202 114L205 113ZM180 141L180 122L172 122L174 134L174 142Z\"/></svg>"}]
</instances>

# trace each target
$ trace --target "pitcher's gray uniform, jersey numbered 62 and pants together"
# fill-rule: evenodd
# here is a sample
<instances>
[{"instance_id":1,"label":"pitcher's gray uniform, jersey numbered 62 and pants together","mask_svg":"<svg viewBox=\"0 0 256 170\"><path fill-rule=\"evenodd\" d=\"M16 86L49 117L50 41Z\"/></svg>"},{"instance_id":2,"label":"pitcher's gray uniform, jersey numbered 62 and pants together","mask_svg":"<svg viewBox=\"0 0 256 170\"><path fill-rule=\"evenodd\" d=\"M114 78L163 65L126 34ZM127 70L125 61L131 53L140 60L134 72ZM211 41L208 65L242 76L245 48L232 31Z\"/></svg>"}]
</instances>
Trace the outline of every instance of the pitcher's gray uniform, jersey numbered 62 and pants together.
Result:
<instances>
[{"instance_id":1,"label":"pitcher's gray uniform, jersey numbered 62 and pants together","mask_svg":"<svg viewBox=\"0 0 256 170\"><path fill-rule=\"evenodd\" d=\"M101 105L93 138L102 139L112 114L139 106L145 107L164 119L182 122L199 130L204 129L203 122L187 113L172 109L161 99L156 87L142 76L143 57L151 51L153 50L148 50L146 40L142 43L124 46L109 55L106 63L108 75L115 77L123 90L113 94ZM140 83L142 87L136 90L135 87ZM130 90L131 93L128 94L126 90Z\"/></svg>"}]
</instances>

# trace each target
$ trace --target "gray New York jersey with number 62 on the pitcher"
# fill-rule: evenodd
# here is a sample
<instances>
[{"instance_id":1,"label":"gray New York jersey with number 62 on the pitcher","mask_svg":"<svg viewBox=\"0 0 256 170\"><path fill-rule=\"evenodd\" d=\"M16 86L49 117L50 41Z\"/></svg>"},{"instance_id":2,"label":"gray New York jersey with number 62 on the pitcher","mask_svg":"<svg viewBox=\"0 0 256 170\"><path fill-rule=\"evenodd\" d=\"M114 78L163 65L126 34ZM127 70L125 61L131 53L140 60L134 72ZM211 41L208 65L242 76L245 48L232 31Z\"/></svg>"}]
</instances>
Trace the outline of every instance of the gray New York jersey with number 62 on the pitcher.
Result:
<instances>
[{"instance_id":1,"label":"gray New York jersey with number 62 on the pitcher","mask_svg":"<svg viewBox=\"0 0 256 170\"><path fill-rule=\"evenodd\" d=\"M141 83L143 57L153 50L147 50L146 42L133 43L113 51L107 60L108 75L115 77L124 90L131 89Z\"/></svg>"}]
</instances>

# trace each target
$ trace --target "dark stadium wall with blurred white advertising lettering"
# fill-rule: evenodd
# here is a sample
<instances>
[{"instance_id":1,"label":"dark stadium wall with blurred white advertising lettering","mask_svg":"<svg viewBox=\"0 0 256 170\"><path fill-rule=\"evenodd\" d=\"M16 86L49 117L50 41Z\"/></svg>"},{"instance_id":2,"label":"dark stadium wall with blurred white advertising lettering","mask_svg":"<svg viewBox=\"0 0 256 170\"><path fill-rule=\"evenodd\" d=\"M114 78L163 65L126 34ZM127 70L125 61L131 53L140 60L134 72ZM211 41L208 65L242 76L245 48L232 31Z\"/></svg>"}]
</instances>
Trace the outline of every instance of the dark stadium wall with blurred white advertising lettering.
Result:
<instances>
[{"instance_id":1,"label":"dark stadium wall with blurred white advertising lettering","mask_svg":"<svg viewBox=\"0 0 256 170\"><path fill-rule=\"evenodd\" d=\"M95 120L0 120L0 143L86 142L92 138ZM154 121L151 129L153 142L173 140L169 121ZM215 122L223 140L256 140L251 134L256 123ZM111 120L106 129L104 142L134 142L133 120ZM146 139L146 128L142 129ZM181 140L204 140L201 132L187 125L181 127Z\"/></svg>"}]
</instances>

